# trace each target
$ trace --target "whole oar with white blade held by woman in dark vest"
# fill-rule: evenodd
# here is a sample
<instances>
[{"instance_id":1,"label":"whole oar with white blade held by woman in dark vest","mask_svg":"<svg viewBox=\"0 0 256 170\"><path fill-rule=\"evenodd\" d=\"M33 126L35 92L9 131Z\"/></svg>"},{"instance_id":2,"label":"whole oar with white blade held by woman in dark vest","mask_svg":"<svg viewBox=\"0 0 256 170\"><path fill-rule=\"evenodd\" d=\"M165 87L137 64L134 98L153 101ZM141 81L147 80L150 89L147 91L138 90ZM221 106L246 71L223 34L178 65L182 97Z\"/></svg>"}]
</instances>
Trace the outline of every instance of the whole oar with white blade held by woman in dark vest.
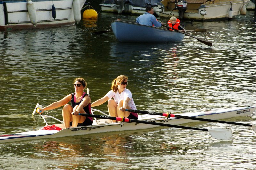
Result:
<instances>
[{"instance_id":1,"label":"whole oar with white blade held by woman in dark vest","mask_svg":"<svg viewBox=\"0 0 256 170\"><path fill-rule=\"evenodd\" d=\"M193 127L164 124L164 123L157 123L157 122L140 121L135 119L128 119L125 117L111 117L106 115L92 115L92 114L86 114L86 113L79 113L79 115L86 116L86 117L104 118L104 119L116 120L121 122L136 122L136 123L144 123L144 124L151 124L151 125L157 125L157 126L167 126L167 127L174 127L174 128L208 131L210 135L215 139L233 140L232 130L230 128L201 129L201 128L193 128Z\"/></svg>"}]
</instances>

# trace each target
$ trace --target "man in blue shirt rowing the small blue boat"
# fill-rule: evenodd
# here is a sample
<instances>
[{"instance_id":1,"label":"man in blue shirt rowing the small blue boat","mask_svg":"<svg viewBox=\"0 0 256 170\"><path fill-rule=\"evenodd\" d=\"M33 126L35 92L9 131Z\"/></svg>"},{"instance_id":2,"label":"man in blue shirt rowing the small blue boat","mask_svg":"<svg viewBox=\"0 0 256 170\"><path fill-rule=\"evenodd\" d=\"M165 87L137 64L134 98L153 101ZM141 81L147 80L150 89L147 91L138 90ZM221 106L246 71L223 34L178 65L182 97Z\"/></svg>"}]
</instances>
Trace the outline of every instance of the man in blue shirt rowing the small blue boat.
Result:
<instances>
[{"instance_id":1,"label":"man in blue shirt rowing the small blue boat","mask_svg":"<svg viewBox=\"0 0 256 170\"><path fill-rule=\"evenodd\" d=\"M164 23L157 21L156 17L153 14L154 14L153 8L151 6L147 6L146 13L143 15L140 15L136 19L136 22L146 26L161 27Z\"/></svg>"}]
</instances>

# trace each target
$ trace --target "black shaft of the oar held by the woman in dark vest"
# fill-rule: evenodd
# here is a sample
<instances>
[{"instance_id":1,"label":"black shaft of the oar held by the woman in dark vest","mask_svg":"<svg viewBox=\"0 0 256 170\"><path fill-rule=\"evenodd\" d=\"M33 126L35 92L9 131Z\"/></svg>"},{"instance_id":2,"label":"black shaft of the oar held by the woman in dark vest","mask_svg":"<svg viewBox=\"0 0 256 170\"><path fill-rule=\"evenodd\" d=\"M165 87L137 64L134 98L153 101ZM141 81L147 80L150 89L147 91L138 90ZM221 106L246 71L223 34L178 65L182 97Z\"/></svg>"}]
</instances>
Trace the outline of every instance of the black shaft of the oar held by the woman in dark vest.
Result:
<instances>
[{"instance_id":1,"label":"black shaft of the oar held by the woman in dark vest","mask_svg":"<svg viewBox=\"0 0 256 170\"><path fill-rule=\"evenodd\" d=\"M86 117L104 118L104 119L116 120L116 121L121 121L121 122L144 123L144 124L151 124L151 125L157 125L157 126L167 126L167 127L173 127L173 128L201 130L201 131L207 131L208 132L208 129L193 128L193 127L187 127L187 126L164 124L164 123L149 122L149 121L140 121L140 120L135 120L135 119L128 119L128 118L125 118L125 117L111 117L111 116L94 115L94 114L87 114L87 113L79 113L79 115L86 116Z\"/></svg>"}]
</instances>

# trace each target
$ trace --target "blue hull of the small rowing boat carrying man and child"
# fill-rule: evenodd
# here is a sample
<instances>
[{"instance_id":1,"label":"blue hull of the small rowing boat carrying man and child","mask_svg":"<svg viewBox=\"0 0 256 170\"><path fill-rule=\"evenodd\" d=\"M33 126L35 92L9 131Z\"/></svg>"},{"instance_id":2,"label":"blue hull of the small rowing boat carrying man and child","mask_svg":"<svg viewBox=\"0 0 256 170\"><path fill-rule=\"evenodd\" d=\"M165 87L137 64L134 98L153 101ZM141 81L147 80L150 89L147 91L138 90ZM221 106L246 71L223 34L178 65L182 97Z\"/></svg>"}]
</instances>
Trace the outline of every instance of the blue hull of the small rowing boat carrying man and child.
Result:
<instances>
[{"instance_id":1,"label":"blue hull of the small rowing boat carrying man and child","mask_svg":"<svg viewBox=\"0 0 256 170\"><path fill-rule=\"evenodd\" d=\"M135 22L115 20L111 23L113 33L120 42L168 43L182 41L184 34Z\"/></svg>"}]
</instances>

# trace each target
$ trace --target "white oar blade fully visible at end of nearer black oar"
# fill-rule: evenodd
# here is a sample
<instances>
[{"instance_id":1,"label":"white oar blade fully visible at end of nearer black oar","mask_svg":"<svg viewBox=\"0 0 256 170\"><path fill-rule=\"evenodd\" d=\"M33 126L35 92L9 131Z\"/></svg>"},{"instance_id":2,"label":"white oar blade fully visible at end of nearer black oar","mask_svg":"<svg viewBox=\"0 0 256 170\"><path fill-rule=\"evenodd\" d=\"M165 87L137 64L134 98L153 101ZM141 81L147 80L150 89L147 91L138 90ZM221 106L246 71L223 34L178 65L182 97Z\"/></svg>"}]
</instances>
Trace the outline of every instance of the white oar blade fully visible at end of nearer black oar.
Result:
<instances>
[{"instance_id":1,"label":"white oar blade fully visible at end of nearer black oar","mask_svg":"<svg viewBox=\"0 0 256 170\"><path fill-rule=\"evenodd\" d=\"M208 132L215 139L233 140L232 130L230 128L212 128L208 129Z\"/></svg>"}]
</instances>

